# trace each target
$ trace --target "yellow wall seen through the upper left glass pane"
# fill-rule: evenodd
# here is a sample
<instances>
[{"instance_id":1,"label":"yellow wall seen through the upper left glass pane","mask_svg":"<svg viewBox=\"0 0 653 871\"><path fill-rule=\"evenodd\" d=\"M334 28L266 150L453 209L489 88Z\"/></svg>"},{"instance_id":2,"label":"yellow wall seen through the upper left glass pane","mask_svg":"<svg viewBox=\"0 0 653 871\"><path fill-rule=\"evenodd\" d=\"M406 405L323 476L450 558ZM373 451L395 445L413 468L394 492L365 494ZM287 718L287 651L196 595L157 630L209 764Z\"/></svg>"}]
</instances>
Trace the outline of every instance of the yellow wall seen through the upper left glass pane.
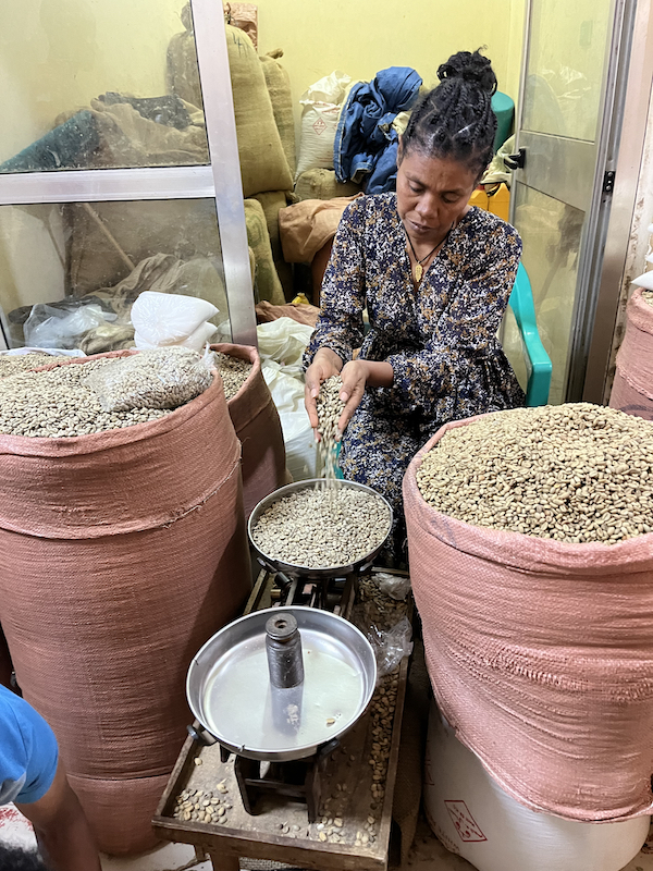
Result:
<instances>
[{"instance_id":1,"label":"yellow wall seen through the upper left glass pane","mask_svg":"<svg viewBox=\"0 0 653 871\"><path fill-rule=\"evenodd\" d=\"M184 0L1 0L0 161L62 111L119 90L165 94L165 48Z\"/></svg>"}]
</instances>

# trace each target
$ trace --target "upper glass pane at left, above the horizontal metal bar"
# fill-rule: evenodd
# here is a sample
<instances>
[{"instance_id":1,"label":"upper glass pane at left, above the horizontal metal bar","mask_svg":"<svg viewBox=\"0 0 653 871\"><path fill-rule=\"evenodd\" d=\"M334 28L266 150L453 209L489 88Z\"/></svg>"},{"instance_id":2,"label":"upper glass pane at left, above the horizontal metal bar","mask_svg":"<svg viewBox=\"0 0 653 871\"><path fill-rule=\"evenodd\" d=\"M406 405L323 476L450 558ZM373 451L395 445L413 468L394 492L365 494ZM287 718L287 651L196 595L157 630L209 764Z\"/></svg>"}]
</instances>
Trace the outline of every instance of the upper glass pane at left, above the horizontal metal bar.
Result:
<instances>
[{"instance_id":1,"label":"upper glass pane at left, above the horizontal metal bar","mask_svg":"<svg viewBox=\"0 0 653 871\"><path fill-rule=\"evenodd\" d=\"M184 0L4 0L0 172L208 163Z\"/></svg>"}]
</instances>

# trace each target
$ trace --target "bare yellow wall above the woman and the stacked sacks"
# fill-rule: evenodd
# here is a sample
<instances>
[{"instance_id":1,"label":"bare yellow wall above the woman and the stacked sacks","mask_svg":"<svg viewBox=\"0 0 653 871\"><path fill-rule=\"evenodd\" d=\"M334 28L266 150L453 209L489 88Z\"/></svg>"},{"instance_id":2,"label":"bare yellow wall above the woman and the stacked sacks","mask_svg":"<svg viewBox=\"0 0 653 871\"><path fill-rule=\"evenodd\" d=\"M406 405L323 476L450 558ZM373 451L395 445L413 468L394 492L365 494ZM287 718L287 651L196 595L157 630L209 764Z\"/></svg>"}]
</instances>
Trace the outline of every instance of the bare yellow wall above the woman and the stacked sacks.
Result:
<instances>
[{"instance_id":1,"label":"bare yellow wall above the woman and the stacked sacks","mask_svg":"<svg viewBox=\"0 0 653 871\"><path fill-rule=\"evenodd\" d=\"M284 50L297 123L301 94L333 70L369 81L412 66L432 86L449 54L480 46L517 101L523 10L525 0L258 0L259 53Z\"/></svg>"}]
</instances>

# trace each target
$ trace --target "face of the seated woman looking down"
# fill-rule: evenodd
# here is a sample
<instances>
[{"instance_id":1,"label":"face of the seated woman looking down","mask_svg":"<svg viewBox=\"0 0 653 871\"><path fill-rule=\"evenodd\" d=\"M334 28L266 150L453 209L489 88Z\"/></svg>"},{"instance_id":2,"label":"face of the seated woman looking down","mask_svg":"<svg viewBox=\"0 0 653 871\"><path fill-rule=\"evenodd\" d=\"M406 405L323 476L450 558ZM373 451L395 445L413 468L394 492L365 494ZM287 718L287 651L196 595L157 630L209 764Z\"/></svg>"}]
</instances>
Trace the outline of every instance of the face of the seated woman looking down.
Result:
<instances>
[{"instance_id":1,"label":"face of the seated woman looking down","mask_svg":"<svg viewBox=\"0 0 653 871\"><path fill-rule=\"evenodd\" d=\"M415 245L436 245L468 210L477 175L452 158L402 152L397 169L397 211Z\"/></svg>"}]
</instances>

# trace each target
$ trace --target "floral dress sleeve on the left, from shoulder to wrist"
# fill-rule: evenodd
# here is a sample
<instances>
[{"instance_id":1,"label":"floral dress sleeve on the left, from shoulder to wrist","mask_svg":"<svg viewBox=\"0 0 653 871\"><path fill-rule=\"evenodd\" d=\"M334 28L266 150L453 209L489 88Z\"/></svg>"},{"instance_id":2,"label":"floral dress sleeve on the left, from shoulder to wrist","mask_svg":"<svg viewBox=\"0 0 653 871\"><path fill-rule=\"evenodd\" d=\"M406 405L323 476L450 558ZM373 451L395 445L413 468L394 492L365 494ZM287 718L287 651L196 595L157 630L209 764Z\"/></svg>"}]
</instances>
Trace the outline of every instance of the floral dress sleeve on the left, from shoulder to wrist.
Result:
<instances>
[{"instance_id":1,"label":"floral dress sleeve on the left, from shoulder to wrist","mask_svg":"<svg viewBox=\"0 0 653 871\"><path fill-rule=\"evenodd\" d=\"M320 317L304 355L305 368L321 347L331 348L347 363L354 348L362 344L365 199L349 204L337 226L322 281Z\"/></svg>"}]
</instances>

